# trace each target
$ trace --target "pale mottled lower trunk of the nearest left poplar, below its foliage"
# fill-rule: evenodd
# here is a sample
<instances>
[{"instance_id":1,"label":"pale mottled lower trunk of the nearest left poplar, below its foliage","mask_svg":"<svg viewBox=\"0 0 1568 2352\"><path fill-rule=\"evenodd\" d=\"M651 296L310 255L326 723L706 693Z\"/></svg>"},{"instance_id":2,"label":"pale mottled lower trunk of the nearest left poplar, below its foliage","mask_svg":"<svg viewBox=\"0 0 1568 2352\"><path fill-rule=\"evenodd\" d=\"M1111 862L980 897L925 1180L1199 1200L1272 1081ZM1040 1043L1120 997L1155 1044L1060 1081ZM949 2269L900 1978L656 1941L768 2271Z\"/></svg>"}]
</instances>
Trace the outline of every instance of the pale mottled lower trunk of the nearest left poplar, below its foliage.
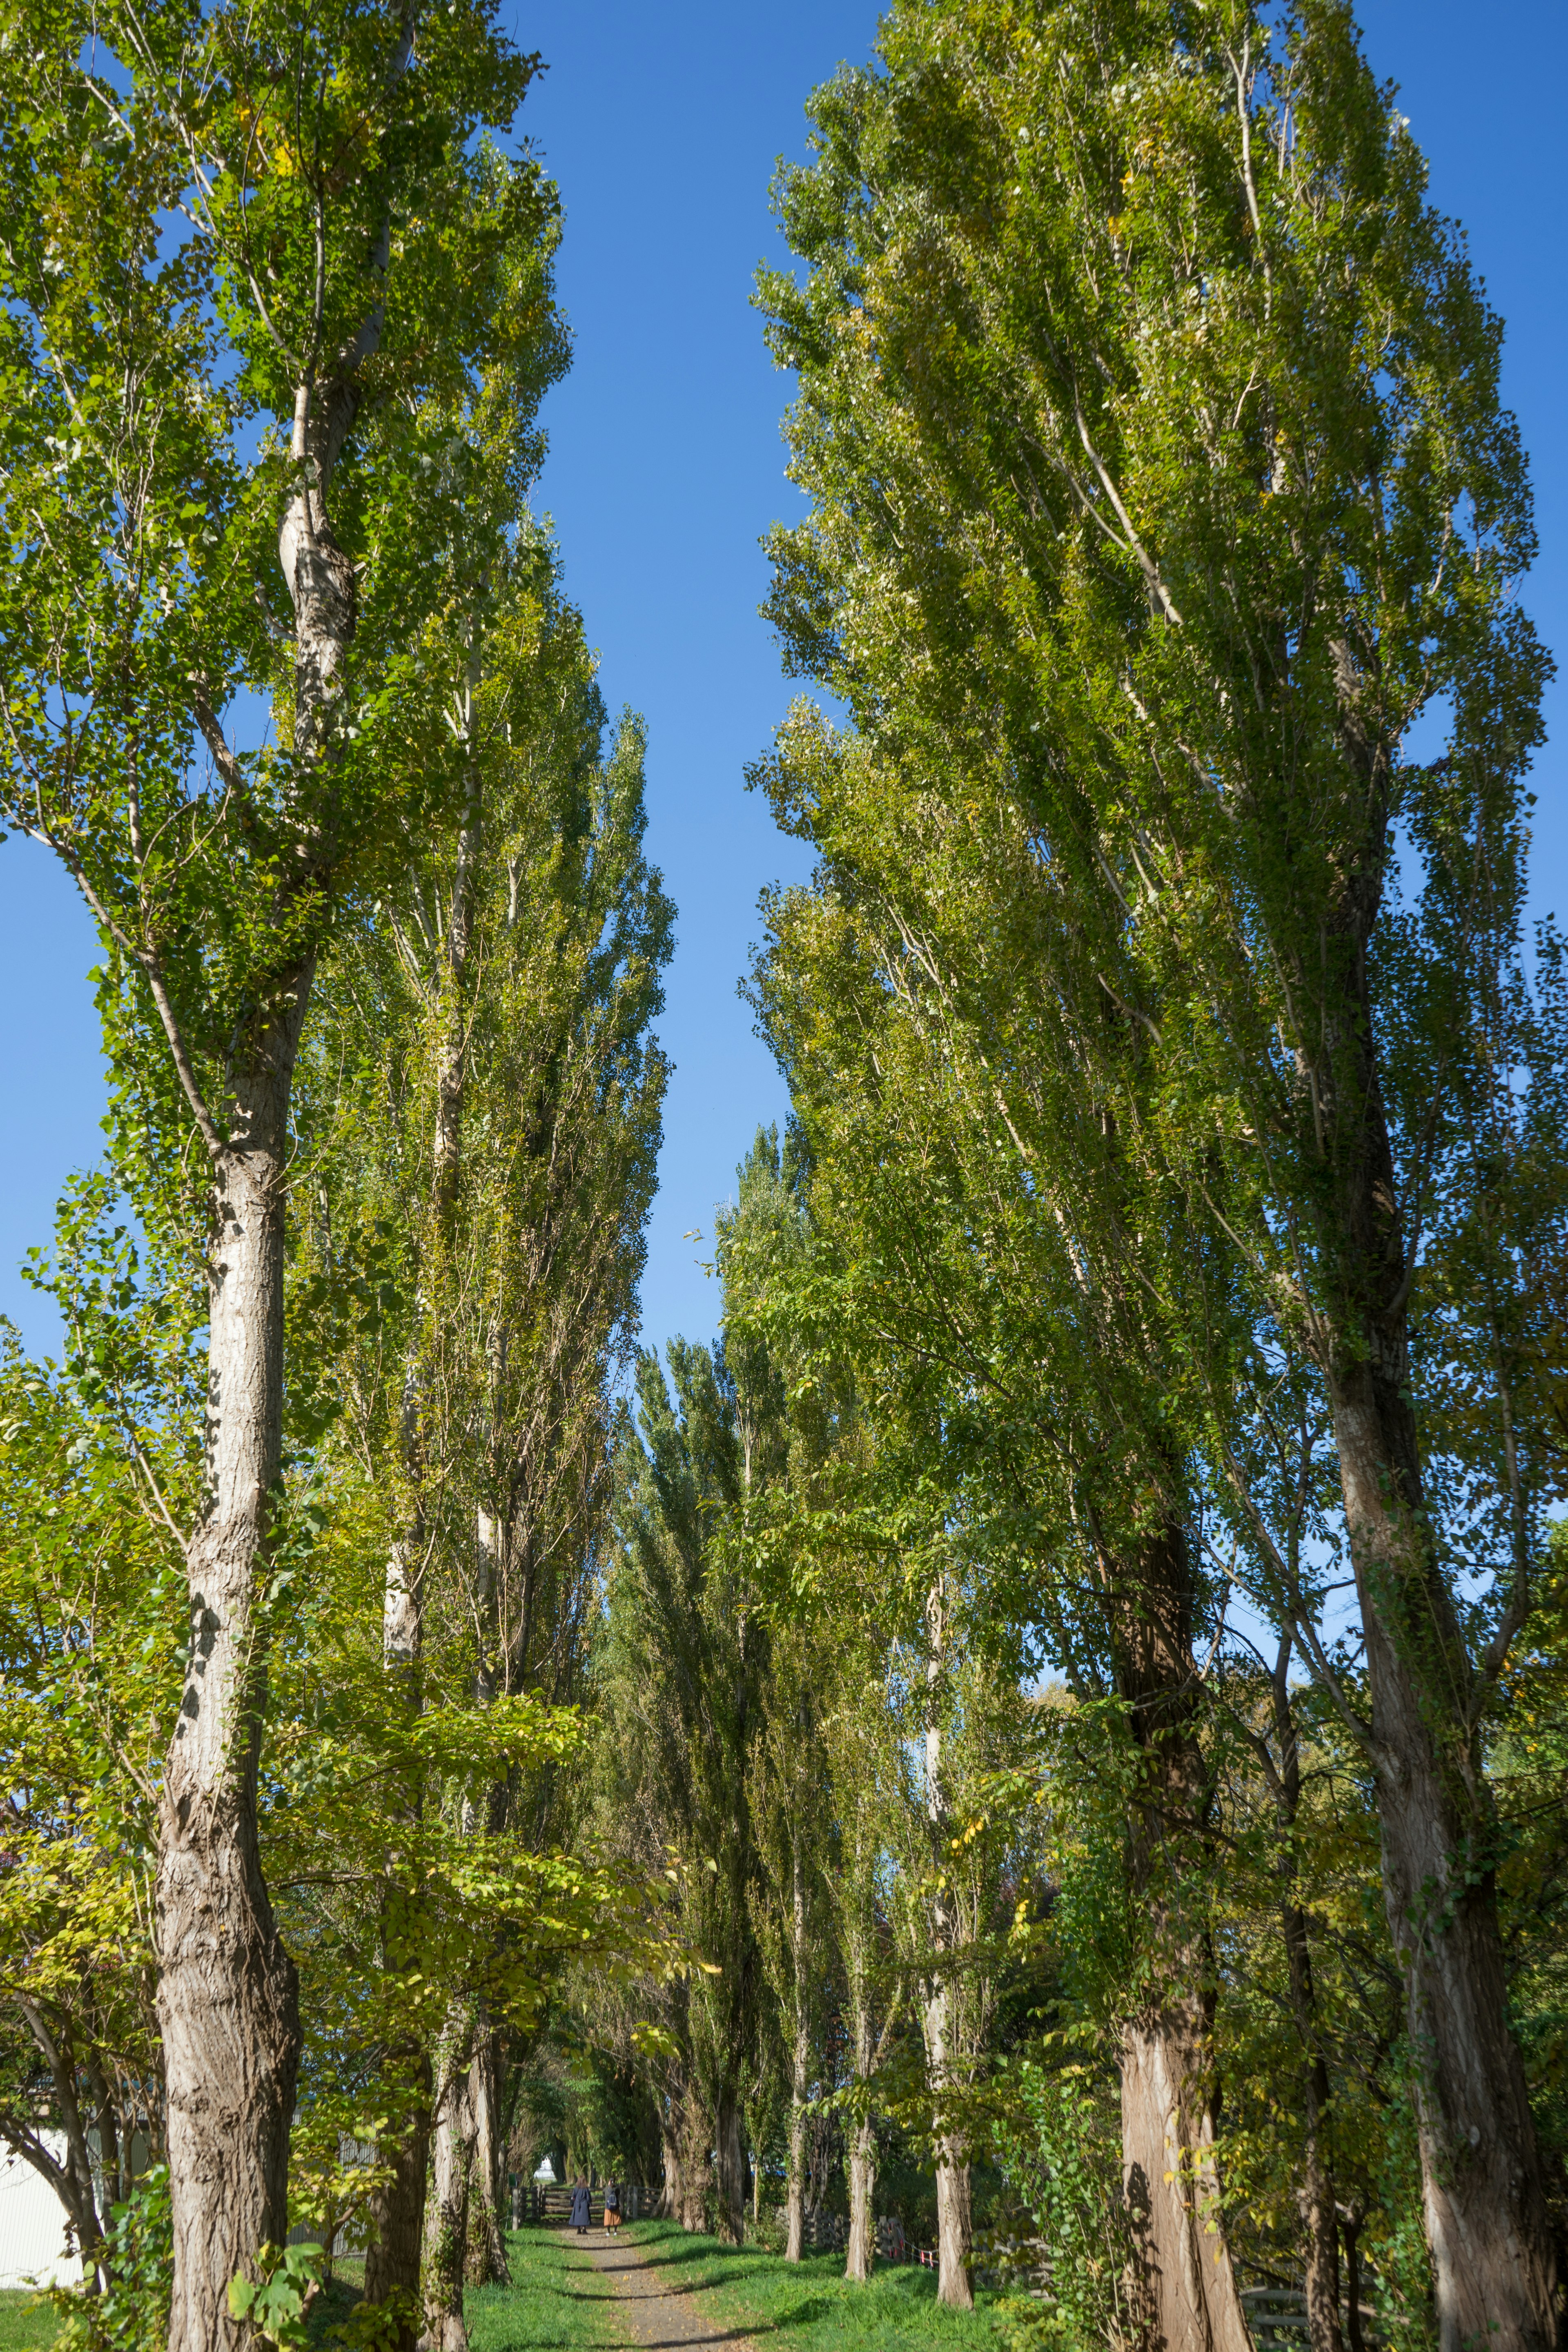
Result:
<instances>
[{"instance_id":1,"label":"pale mottled lower trunk of the nearest left poplar, below its foliage","mask_svg":"<svg viewBox=\"0 0 1568 2352\"><path fill-rule=\"evenodd\" d=\"M230 2336L228 2281L287 2237L299 1985L256 1844L266 1670L254 1604L282 1437L287 1110L310 962L247 1033L216 1155L207 1496L186 1555L190 1656L158 1839L158 2023L174 2209L172 2352Z\"/></svg>"}]
</instances>

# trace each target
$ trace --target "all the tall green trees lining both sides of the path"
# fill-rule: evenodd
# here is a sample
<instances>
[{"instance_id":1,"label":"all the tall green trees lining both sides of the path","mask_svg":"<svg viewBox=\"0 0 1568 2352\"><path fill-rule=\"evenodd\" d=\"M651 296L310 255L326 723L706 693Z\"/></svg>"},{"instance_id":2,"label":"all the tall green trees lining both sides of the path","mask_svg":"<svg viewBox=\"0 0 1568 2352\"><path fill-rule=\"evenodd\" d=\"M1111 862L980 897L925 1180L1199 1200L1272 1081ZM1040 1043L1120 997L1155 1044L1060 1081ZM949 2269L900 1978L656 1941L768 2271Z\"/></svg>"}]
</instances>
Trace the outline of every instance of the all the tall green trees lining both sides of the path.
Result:
<instances>
[{"instance_id":1,"label":"all the tall green trees lining both sides of the path","mask_svg":"<svg viewBox=\"0 0 1568 2352\"><path fill-rule=\"evenodd\" d=\"M1544 2352L1568 995L1458 230L1338 0L898 0L816 94L792 1124L661 1364L534 68L480 0L0 47L7 821L113 1073L0 1369L0 2136L82 2324L207 2352L308 2220L461 2352L564 2136L795 2258L842 2173L957 2305L1023 2241L1025 2343L1246 2352L1253 2277Z\"/></svg>"}]
</instances>

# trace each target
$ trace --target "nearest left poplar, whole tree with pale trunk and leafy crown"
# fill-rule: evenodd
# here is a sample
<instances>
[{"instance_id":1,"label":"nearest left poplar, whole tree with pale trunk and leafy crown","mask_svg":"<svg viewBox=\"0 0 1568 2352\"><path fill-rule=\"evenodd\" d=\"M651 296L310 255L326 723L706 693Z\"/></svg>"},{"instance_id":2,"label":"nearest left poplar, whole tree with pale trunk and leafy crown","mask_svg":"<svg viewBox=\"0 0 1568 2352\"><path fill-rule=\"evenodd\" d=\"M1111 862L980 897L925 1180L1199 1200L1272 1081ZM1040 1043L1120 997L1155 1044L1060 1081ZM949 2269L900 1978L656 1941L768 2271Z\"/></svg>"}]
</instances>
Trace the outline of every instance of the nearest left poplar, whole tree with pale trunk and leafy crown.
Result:
<instances>
[{"instance_id":1,"label":"nearest left poplar, whole tree with pale trunk and leafy crown","mask_svg":"<svg viewBox=\"0 0 1568 2352\"><path fill-rule=\"evenodd\" d=\"M256 1846L289 1098L339 908L451 790L423 397L536 320L531 61L475 0L16 7L0 64L7 818L108 948L122 1150L205 1256L207 1491L160 1797L172 2345L287 2234L296 1976ZM235 696L270 696L247 750Z\"/></svg>"}]
</instances>

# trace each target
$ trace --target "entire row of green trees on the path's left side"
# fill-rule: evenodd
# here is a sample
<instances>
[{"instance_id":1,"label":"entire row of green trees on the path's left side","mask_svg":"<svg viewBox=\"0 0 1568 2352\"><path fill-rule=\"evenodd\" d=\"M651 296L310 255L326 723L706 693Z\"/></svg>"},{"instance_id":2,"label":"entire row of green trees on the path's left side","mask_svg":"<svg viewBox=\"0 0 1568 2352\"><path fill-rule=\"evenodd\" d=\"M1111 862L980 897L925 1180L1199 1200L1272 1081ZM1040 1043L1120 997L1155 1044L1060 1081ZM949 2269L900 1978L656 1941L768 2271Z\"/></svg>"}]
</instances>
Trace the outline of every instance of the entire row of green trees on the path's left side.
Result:
<instances>
[{"instance_id":1,"label":"entire row of green trees on the path's left side","mask_svg":"<svg viewBox=\"0 0 1568 2352\"><path fill-rule=\"evenodd\" d=\"M0 54L7 821L113 1087L0 1371L0 2138L89 2340L277 2328L303 2220L461 2347L512 2051L654 1950L574 1785L672 910L524 503L536 66L484 0Z\"/></svg>"}]
</instances>

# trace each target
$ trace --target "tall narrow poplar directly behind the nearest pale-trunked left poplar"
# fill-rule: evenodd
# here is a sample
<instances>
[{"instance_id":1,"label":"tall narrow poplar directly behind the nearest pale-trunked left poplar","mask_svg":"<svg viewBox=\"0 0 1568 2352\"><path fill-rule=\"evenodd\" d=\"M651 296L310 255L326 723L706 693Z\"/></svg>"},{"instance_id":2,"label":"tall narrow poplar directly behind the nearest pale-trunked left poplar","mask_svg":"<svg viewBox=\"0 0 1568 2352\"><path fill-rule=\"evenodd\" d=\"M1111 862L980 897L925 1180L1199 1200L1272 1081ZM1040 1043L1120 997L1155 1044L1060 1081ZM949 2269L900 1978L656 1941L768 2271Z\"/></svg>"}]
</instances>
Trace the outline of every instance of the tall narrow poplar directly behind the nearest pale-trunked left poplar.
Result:
<instances>
[{"instance_id":1,"label":"tall narrow poplar directly behind the nearest pale-trunked left poplar","mask_svg":"<svg viewBox=\"0 0 1568 2352\"><path fill-rule=\"evenodd\" d=\"M329 1418L334 1472L378 1491L388 1705L414 1722L428 1682L456 1679L470 1708L581 1698L665 1084L649 1028L672 910L644 856L642 729L607 729L531 529L470 588L449 713L465 793L322 976L301 1084L317 1200L292 1265L315 1345L301 1409ZM324 1345L313 1317L374 1268L388 1310ZM543 1849L571 1828L564 1795L505 1776L475 1835ZM418 1785L407 1806L416 1835ZM505 2277L508 2037L477 1971L433 2079L423 1933L395 1884L383 1966L411 1990L386 2060L404 2112L367 2300L411 2312L423 2239L428 2319L456 2343L465 2277Z\"/></svg>"}]
</instances>

